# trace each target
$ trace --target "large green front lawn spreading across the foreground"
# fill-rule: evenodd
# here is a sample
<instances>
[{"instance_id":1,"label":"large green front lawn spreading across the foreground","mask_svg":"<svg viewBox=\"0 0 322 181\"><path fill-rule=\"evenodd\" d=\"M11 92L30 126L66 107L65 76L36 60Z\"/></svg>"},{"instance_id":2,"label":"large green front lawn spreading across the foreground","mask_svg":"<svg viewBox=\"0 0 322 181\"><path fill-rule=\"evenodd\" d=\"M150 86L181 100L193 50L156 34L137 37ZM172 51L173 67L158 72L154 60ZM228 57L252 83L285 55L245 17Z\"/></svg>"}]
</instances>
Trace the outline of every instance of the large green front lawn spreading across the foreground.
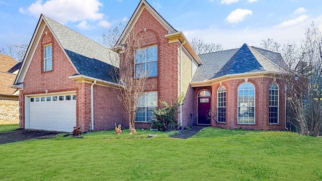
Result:
<instances>
[{"instance_id":1,"label":"large green front lawn spreading across the foreground","mask_svg":"<svg viewBox=\"0 0 322 181\"><path fill-rule=\"evenodd\" d=\"M208 127L182 140L127 131L0 145L0 180L322 179L321 137ZM135 139L148 134L157 136Z\"/></svg>"}]
</instances>

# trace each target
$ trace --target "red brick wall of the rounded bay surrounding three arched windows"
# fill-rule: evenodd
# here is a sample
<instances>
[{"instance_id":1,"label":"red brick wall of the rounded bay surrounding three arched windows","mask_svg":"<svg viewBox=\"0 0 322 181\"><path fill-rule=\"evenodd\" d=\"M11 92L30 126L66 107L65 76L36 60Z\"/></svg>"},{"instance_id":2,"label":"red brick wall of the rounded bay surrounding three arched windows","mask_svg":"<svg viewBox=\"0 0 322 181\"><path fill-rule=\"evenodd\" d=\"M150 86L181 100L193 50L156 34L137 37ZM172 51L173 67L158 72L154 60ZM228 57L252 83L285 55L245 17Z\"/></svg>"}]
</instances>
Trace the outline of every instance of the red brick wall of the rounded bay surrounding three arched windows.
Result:
<instances>
[{"instance_id":1,"label":"red brick wall of the rounded bay surrounding three arched windows","mask_svg":"<svg viewBox=\"0 0 322 181\"><path fill-rule=\"evenodd\" d=\"M272 78L259 77L249 78L248 82L255 86L255 124L237 124L237 89L245 79L223 81L226 88L226 123L218 123L218 127L227 129L254 129L254 130L285 130L285 96L281 90L284 87L280 81L276 81L280 87L279 91L279 124L269 124L269 84ZM219 83L212 85L212 115L216 115L217 90ZM197 92L197 91L196 91ZM215 122L212 122L215 127Z\"/></svg>"}]
</instances>

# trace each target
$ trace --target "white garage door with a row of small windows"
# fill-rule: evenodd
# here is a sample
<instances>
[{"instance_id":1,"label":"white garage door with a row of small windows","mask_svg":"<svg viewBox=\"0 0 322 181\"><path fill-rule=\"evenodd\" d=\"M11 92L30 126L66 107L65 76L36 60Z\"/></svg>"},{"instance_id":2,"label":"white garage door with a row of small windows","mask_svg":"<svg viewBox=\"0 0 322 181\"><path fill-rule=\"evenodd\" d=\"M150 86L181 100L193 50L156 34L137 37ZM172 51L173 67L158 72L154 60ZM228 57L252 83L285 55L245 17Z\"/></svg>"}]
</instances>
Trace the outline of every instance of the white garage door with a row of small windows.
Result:
<instances>
[{"instance_id":1,"label":"white garage door with a row of small windows","mask_svg":"<svg viewBox=\"0 0 322 181\"><path fill-rule=\"evenodd\" d=\"M76 126L75 93L30 97L30 128L71 132Z\"/></svg>"}]
</instances>

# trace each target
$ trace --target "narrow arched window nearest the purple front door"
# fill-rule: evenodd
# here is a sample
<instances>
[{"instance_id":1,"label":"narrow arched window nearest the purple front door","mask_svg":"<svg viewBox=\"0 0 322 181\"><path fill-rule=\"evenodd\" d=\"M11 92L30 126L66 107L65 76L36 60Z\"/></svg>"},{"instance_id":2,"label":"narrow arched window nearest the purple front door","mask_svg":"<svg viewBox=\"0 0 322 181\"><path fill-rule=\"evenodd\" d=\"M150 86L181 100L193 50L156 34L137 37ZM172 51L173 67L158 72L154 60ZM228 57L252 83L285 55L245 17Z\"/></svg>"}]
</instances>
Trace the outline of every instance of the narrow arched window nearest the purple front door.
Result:
<instances>
[{"instance_id":1,"label":"narrow arched window nearest the purple front door","mask_svg":"<svg viewBox=\"0 0 322 181\"><path fill-rule=\"evenodd\" d=\"M217 122L226 122L226 89L223 86L217 92Z\"/></svg>"}]
</instances>

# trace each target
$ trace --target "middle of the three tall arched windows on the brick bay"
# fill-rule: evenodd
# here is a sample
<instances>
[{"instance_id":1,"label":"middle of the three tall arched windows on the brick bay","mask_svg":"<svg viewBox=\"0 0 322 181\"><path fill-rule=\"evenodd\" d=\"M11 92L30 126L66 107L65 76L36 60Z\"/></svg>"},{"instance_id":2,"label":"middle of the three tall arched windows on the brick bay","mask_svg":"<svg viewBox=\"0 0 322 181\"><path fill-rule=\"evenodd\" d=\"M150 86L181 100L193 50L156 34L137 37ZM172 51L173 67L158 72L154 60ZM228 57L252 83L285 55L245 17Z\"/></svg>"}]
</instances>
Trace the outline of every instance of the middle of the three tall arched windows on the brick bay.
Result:
<instances>
[{"instance_id":1,"label":"middle of the three tall arched windows on the brick bay","mask_svg":"<svg viewBox=\"0 0 322 181\"><path fill-rule=\"evenodd\" d=\"M249 82L238 87L238 124L255 124L255 87Z\"/></svg>"}]
</instances>

